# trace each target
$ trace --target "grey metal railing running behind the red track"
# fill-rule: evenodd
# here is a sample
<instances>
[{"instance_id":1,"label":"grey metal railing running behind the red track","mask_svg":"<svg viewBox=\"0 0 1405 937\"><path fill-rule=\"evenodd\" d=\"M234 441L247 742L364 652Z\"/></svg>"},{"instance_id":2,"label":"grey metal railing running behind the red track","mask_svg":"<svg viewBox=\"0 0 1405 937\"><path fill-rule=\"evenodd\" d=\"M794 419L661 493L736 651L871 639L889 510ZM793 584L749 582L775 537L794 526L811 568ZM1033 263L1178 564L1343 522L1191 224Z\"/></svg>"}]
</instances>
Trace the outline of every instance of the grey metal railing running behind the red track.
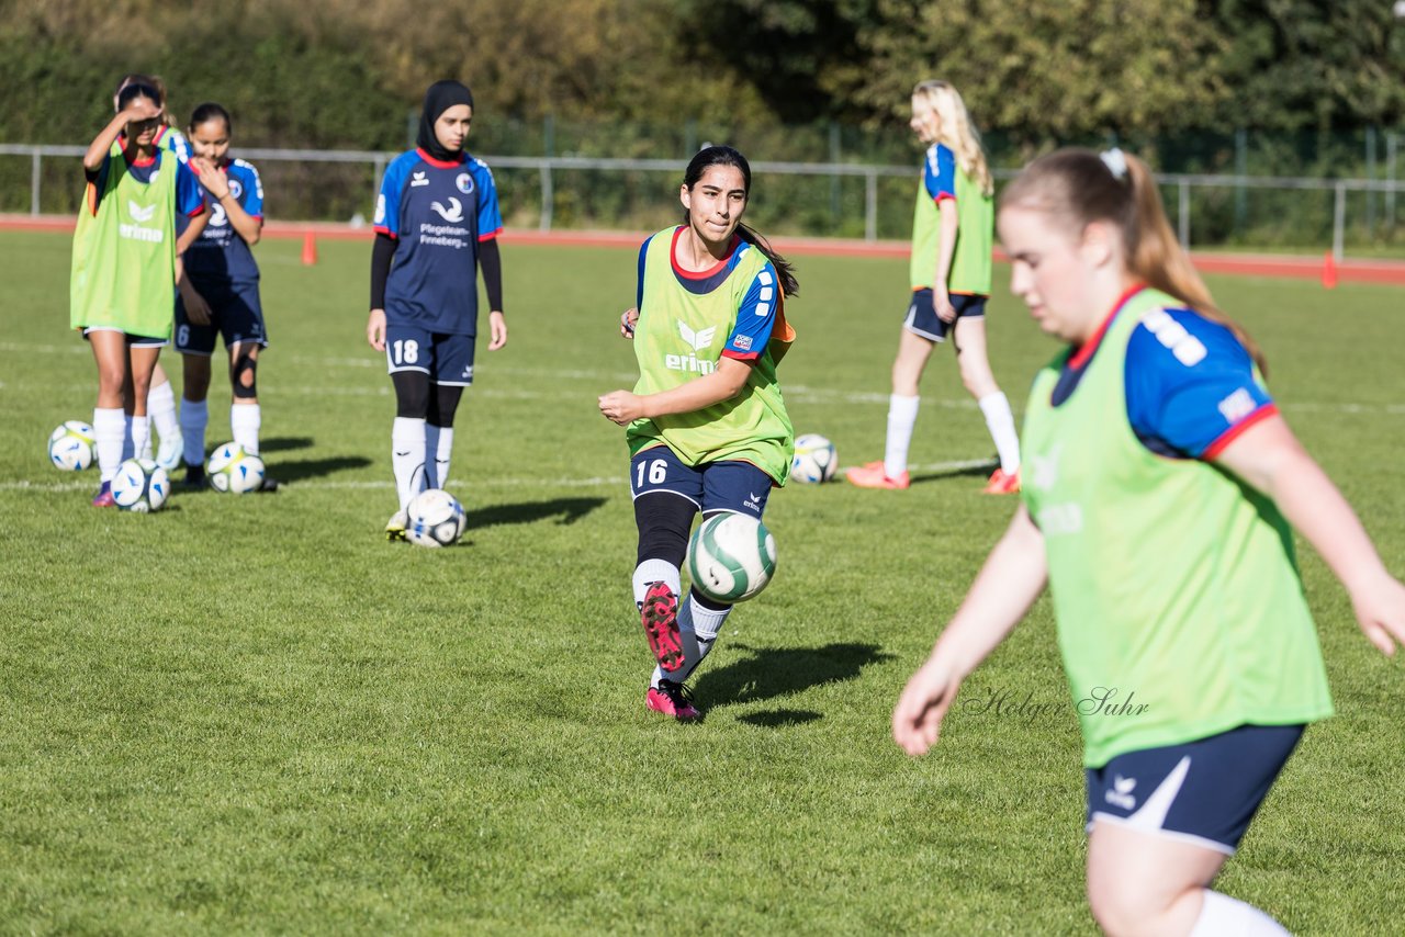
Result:
<instances>
[{"instance_id":1,"label":"grey metal railing running behind the red track","mask_svg":"<svg viewBox=\"0 0 1405 937\"><path fill-rule=\"evenodd\" d=\"M81 157L86 148L81 146L53 146L27 143L0 143L0 156L28 157L30 171L30 211L41 214L44 201L44 160L45 159L74 159ZM370 169L370 184L364 192L364 205L375 204L375 187L385 171L386 164L395 159L396 153L372 150L298 150L298 149L239 149L239 156L256 163L292 163L303 166L344 164ZM534 173L540 185L540 207L537 211L537 226L541 230L551 230L555 223L556 205L561 197L559 180L572 171L592 171L611 176L628 173L659 173L674 178L681 176L684 160L667 159L601 159L580 156L483 156L495 170L520 170ZM912 166L874 166L853 163L795 163L795 162L754 162L752 169L756 173L788 177L822 177L832 180L835 185L835 207L839 209L837 187L842 180L861 181L861 212L863 236L867 240L877 240L880 236L880 208L892 197L880 194L880 181L906 180L913 181L916 171ZM1014 170L995 170L998 180L1009 180L1016 176ZM1168 215L1176 225L1182 244L1191 246L1193 215L1191 194L1201 191L1228 192L1231 214L1236 219L1245 216L1245 204L1250 191L1276 192L1322 192L1331 194L1331 250L1338 260L1346 253L1347 232L1347 204L1350 194L1363 194L1364 211L1363 222L1368 233L1378 237L1380 233L1392 240L1398 228L1405 229L1405 219L1401 219L1398 209L1405 205L1405 199L1397 195L1405 191L1405 183L1391 180L1366 178L1307 178L1307 177L1266 177L1243 174L1186 174L1161 173L1156 181L1162 185L1166 199ZM663 187L666 190L667 187ZM662 190L660 190L662 191ZM910 205L910 188L906 191L906 204ZM358 195L360 198L360 195ZM1221 199L1224 201L1224 199ZM306 221L312 221L311 218ZM1197 242L1198 243L1198 242Z\"/></svg>"}]
</instances>

